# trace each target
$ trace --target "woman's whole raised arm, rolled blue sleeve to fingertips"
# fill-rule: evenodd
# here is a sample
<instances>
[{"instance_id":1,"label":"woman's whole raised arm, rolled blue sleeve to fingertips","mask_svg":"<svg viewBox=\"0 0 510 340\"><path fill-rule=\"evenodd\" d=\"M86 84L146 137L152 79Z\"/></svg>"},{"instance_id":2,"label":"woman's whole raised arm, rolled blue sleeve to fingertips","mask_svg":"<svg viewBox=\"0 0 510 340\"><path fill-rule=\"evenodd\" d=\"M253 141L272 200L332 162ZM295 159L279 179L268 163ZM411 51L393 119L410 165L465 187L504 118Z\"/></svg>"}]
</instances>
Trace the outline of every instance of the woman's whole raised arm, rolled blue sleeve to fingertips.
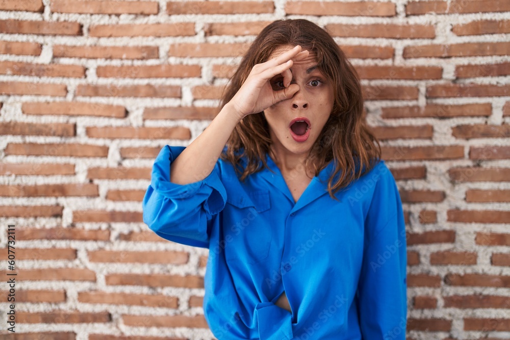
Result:
<instances>
[{"instance_id":1,"label":"woman's whole raised arm, rolled blue sleeve to fingertips","mask_svg":"<svg viewBox=\"0 0 510 340\"><path fill-rule=\"evenodd\" d=\"M218 158L236 124L299 89L292 84L292 58L306 58L300 47L253 67L234 98L189 146L165 146L152 167L151 184L142 202L143 222L159 236L191 246L209 246L211 221L226 202ZM284 75L286 88L273 91L269 80ZM213 221L214 222L214 221Z\"/></svg>"}]
</instances>

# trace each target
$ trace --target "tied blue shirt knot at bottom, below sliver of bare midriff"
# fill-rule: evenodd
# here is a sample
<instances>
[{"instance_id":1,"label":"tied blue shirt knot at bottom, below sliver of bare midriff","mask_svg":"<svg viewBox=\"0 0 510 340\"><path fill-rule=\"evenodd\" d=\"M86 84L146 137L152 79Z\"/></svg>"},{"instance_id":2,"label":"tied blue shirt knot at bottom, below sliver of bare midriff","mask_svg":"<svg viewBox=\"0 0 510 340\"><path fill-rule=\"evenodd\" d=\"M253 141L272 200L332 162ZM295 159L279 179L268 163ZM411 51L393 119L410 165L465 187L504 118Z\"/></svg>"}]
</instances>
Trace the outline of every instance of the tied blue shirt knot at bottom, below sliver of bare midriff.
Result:
<instances>
[{"instance_id":1,"label":"tied blue shirt knot at bottom, below sliver of bare midriff","mask_svg":"<svg viewBox=\"0 0 510 340\"><path fill-rule=\"evenodd\" d=\"M253 317L259 325L260 340L289 340L292 333L292 314L272 302L260 302L255 306Z\"/></svg>"}]
</instances>

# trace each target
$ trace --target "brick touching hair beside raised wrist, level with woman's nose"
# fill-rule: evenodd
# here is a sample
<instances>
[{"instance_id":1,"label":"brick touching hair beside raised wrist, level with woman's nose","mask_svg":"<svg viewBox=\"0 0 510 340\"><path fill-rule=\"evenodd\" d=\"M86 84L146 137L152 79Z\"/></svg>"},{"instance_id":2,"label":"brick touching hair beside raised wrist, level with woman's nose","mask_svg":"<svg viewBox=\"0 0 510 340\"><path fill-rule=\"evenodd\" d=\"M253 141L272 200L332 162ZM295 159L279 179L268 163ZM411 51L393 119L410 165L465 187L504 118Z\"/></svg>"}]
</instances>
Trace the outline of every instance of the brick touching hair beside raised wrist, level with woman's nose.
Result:
<instances>
[{"instance_id":1,"label":"brick touching hair beside raised wrist, level with woman's nose","mask_svg":"<svg viewBox=\"0 0 510 340\"><path fill-rule=\"evenodd\" d=\"M166 107L145 108L143 119L207 119L212 120L218 114L217 108L209 107Z\"/></svg>"}]
</instances>

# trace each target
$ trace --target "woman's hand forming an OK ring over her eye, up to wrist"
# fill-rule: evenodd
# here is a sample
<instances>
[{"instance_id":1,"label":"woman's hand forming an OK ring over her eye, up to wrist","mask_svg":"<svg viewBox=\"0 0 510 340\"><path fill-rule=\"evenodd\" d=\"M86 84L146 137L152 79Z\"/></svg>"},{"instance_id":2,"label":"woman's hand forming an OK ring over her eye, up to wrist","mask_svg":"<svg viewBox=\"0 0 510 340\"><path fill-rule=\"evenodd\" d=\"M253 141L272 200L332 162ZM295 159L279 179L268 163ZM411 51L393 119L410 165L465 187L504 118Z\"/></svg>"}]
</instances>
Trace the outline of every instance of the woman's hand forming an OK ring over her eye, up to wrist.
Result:
<instances>
[{"instance_id":1,"label":"woman's hand forming an OK ring over her eye, up to wrist","mask_svg":"<svg viewBox=\"0 0 510 340\"><path fill-rule=\"evenodd\" d=\"M249 114L262 112L278 101L292 98L299 86L291 85L290 68L294 60L302 60L308 55L308 50L301 51L301 46L298 45L265 63L253 66L246 81L229 102L241 119ZM278 74L282 74L285 88L275 91L270 80Z\"/></svg>"}]
</instances>

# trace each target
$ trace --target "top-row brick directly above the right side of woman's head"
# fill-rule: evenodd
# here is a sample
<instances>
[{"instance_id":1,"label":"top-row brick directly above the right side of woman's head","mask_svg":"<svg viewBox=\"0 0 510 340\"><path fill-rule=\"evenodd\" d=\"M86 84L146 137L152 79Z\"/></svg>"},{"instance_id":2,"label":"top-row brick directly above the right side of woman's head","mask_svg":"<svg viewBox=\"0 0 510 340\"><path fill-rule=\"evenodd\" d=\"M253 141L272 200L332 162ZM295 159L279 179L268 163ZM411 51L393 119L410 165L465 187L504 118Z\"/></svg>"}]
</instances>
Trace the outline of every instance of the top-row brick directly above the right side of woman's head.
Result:
<instances>
[{"instance_id":1,"label":"top-row brick directly above the right side of woman's head","mask_svg":"<svg viewBox=\"0 0 510 340\"><path fill-rule=\"evenodd\" d=\"M394 16L396 10L395 4L391 2L290 1L285 4L285 13L287 15Z\"/></svg>"}]
</instances>

